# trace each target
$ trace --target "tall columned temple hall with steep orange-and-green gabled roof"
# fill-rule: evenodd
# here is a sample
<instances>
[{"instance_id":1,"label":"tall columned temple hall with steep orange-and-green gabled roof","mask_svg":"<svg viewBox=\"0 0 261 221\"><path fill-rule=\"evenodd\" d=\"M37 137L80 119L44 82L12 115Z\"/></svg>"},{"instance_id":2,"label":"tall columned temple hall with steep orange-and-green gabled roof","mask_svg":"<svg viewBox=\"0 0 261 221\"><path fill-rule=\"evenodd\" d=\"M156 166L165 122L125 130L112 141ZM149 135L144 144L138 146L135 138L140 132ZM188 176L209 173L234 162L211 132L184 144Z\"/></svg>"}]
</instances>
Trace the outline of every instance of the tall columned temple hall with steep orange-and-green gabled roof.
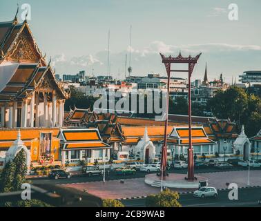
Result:
<instances>
[{"instance_id":1,"label":"tall columned temple hall with steep orange-and-green gabled roof","mask_svg":"<svg viewBox=\"0 0 261 221\"><path fill-rule=\"evenodd\" d=\"M25 20L0 23L1 127L62 126L68 93L55 79Z\"/></svg>"}]
</instances>

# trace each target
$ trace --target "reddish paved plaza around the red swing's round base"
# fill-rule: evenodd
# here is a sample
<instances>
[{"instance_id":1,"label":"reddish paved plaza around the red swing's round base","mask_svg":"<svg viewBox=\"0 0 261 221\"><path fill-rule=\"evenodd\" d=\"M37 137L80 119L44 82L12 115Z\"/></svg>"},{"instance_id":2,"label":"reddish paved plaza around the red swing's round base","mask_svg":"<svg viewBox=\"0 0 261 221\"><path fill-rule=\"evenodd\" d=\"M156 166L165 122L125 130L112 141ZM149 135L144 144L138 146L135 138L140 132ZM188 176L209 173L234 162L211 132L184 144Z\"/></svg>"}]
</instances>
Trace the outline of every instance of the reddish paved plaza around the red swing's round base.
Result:
<instances>
[{"instance_id":1,"label":"reddish paved plaza around the red swing's round base","mask_svg":"<svg viewBox=\"0 0 261 221\"><path fill-rule=\"evenodd\" d=\"M247 186L248 171L227 171L214 173L198 173L196 176L205 177L208 180L209 186L214 186L217 189L227 189L228 183L238 184L239 188ZM185 175L184 175L185 176ZM261 170L250 172L250 186L261 186ZM87 191L90 194L106 199L122 199L122 198L137 198L145 197L153 193L159 193L160 188L149 186L144 183L144 177L124 179L124 183L120 180L109 180L105 183L97 182L79 182L62 184L69 188ZM173 189L179 193L193 191L193 189Z\"/></svg>"}]
</instances>

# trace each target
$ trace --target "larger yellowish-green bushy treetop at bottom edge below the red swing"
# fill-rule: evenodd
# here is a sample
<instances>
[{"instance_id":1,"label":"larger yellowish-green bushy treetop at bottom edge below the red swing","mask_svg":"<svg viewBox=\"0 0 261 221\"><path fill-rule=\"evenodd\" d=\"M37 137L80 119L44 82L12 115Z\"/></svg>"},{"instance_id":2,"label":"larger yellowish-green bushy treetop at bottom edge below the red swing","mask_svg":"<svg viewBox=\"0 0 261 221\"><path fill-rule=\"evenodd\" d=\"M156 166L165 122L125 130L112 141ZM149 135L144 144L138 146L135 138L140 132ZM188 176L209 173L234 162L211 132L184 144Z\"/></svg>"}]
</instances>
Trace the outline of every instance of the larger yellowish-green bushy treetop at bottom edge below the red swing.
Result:
<instances>
[{"instance_id":1,"label":"larger yellowish-green bushy treetop at bottom edge below the red swing","mask_svg":"<svg viewBox=\"0 0 261 221\"><path fill-rule=\"evenodd\" d=\"M165 189L161 193L148 195L146 198L147 207L181 207L182 205L177 200L180 195L176 191Z\"/></svg>"}]
</instances>

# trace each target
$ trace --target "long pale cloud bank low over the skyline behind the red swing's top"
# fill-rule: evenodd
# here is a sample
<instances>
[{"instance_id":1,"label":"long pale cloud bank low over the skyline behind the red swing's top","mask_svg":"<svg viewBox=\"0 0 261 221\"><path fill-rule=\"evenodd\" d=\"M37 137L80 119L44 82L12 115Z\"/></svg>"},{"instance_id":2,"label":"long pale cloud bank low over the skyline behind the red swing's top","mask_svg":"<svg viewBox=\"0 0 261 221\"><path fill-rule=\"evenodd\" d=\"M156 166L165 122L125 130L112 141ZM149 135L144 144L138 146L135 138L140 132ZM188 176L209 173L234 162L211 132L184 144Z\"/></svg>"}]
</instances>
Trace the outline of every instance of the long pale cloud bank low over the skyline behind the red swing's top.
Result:
<instances>
[{"instance_id":1,"label":"long pale cloud bank low over the skyline behind the red swing's top","mask_svg":"<svg viewBox=\"0 0 261 221\"><path fill-rule=\"evenodd\" d=\"M199 64L195 67L194 77L203 75L206 61L208 62L209 77L216 77L221 72L224 77L232 74L237 76L244 70L261 68L261 46L258 45L224 43L172 45L156 40L143 48L126 48L120 52L110 52L110 73L113 77L119 79L124 77L125 58L126 54L129 56L129 50L132 52L133 75L146 75L150 72L164 75L166 70L162 66L159 52L166 56L177 56L180 51L184 56L195 56L203 52ZM53 64L55 64L57 73L60 74L86 70L88 74L94 72L95 75L104 75L107 73L107 50L99 51L95 55L83 55L70 59L66 58L64 54L57 55L53 59Z\"/></svg>"}]
</instances>

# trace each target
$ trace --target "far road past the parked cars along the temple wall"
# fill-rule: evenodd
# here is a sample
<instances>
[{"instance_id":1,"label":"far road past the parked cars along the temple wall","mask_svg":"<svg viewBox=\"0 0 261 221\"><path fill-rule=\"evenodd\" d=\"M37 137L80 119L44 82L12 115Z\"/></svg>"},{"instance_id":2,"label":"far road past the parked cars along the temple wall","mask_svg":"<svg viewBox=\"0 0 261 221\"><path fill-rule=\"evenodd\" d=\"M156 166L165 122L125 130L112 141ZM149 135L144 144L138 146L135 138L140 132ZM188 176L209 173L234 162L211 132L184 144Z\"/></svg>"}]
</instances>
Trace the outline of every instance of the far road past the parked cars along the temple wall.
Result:
<instances>
[{"instance_id":1,"label":"far road past the parked cars along the temple wall","mask_svg":"<svg viewBox=\"0 0 261 221\"><path fill-rule=\"evenodd\" d=\"M259 169L259 168L258 168ZM251 169L251 170L258 170L258 169ZM219 170L215 169L213 167L207 167L207 168L200 168L195 169L195 173L214 173L214 172L221 172L221 171L244 171L247 170L247 168L244 168L242 166L235 166L232 169L226 169L226 170ZM153 172L155 173L155 172ZM168 171L168 173L182 173L186 174L187 169L171 169ZM131 178L142 178L145 177L148 173L137 171L135 175L116 175L115 172L110 172L110 175L106 176L106 180L120 180L120 179L131 179ZM39 177L39 178L33 178L30 179L32 181L32 184L72 184L72 183L79 183L79 182L94 182L94 181L102 181L103 177L102 175L93 175L91 177L88 177L84 174L82 175L72 175L70 179L60 179L60 180L49 180L47 177Z\"/></svg>"}]
</instances>

